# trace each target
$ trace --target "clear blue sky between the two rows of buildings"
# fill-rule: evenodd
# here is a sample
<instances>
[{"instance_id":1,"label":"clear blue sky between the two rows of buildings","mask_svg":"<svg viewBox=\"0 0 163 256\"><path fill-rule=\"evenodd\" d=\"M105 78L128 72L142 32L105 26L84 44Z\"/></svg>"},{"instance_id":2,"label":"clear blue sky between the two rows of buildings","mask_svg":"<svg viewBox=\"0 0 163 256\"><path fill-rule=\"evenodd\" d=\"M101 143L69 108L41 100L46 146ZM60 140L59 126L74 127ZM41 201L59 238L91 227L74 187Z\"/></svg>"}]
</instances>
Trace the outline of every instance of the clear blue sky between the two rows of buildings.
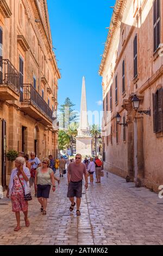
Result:
<instances>
[{"instance_id":1,"label":"clear blue sky between the two rows of buildings","mask_svg":"<svg viewBox=\"0 0 163 256\"><path fill-rule=\"evenodd\" d=\"M47 0L53 45L61 68L58 102L69 97L80 110L82 78L87 110L101 111L102 78L98 75L115 0Z\"/></svg>"}]
</instances>

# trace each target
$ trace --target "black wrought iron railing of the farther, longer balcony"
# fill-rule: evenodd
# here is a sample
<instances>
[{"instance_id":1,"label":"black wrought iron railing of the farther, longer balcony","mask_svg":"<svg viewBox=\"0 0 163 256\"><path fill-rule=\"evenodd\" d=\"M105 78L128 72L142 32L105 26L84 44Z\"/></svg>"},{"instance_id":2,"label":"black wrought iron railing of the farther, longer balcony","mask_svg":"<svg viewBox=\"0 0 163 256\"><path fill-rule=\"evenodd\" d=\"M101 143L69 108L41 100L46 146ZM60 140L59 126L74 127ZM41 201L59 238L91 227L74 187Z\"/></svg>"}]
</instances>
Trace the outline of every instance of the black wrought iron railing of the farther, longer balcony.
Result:
<instances>
[{"instance_id":1,"label":"black wrought iron railing of the farther, longer balcony","mask_svg":"<svg viewBox=\"0 0 163 256\"><path fill-rule=\"evenodd\" d=\"M37 106L44 115L52 120L53 112L51 108L49 108L48 104L43 100L35 88L31 84L23 84L22 89L21 102Z\"/></svg>"}]
</instances>

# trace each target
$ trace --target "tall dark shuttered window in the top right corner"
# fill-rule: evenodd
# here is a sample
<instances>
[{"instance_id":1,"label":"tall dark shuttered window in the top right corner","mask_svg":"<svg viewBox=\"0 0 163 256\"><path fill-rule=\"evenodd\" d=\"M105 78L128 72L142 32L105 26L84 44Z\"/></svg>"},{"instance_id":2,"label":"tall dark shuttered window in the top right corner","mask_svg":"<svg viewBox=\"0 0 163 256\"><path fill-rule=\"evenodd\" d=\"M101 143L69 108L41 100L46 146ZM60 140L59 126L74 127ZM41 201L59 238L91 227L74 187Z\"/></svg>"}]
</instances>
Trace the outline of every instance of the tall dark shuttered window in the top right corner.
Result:
<instances>
[{"instance_id":1,"label":"tall dark shuttered window in the top right corner","mask_svg":"<svg viewBox=\"0 0 163 256\"><path fill-rule=\"evenodd\" d=\"M153 5L154 52L160 45L160 0L155 0Z\"/></svg>"}]
</instances>

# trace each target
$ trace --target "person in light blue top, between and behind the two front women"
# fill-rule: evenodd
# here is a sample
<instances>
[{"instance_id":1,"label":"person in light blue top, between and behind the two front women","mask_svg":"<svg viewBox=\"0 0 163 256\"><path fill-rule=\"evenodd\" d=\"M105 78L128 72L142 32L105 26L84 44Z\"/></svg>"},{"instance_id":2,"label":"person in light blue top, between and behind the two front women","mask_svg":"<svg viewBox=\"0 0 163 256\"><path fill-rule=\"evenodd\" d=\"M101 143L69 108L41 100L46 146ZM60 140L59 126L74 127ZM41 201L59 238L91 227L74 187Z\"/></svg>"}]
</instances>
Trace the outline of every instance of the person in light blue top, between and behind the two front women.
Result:
<instances>
[{"instance_id":1,"label":"person in light blue top, between and behind the two front women","mask_svg":"<svg viewBox=\"0 0 163 256\"><path fill-rule=\"evenodd\" d=\"M35 152L31 152L29 162L31 164L29 184L30 186L33 186L34 180L35 180L35 172L36 172L36 169L41 166L41 161L39 158L35 157ZM35 190L35 197L36 197L36 190Z\"/></svg>"}]
</instances>

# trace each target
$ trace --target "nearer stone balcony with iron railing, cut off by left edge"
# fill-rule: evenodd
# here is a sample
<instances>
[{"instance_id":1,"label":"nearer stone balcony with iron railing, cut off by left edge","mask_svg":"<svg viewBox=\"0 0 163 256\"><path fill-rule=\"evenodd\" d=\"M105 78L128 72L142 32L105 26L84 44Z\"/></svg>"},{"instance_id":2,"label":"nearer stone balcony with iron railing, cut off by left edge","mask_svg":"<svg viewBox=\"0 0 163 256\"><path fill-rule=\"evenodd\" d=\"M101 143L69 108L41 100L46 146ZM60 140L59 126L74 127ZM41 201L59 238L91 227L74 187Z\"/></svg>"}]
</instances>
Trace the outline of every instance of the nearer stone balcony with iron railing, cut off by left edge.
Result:
<instances>
[{"instance_id":1,"label":"nearer stone balcony with iron railing, cut off by left edge","mask_svg":"<svg viewBox=\"0 0 163 256\"><path fill-rule=\"evenodd\" d=\"M20 74L9 59L0 59L0 100L19 100Z\"/></svg>"}]
</instances>

